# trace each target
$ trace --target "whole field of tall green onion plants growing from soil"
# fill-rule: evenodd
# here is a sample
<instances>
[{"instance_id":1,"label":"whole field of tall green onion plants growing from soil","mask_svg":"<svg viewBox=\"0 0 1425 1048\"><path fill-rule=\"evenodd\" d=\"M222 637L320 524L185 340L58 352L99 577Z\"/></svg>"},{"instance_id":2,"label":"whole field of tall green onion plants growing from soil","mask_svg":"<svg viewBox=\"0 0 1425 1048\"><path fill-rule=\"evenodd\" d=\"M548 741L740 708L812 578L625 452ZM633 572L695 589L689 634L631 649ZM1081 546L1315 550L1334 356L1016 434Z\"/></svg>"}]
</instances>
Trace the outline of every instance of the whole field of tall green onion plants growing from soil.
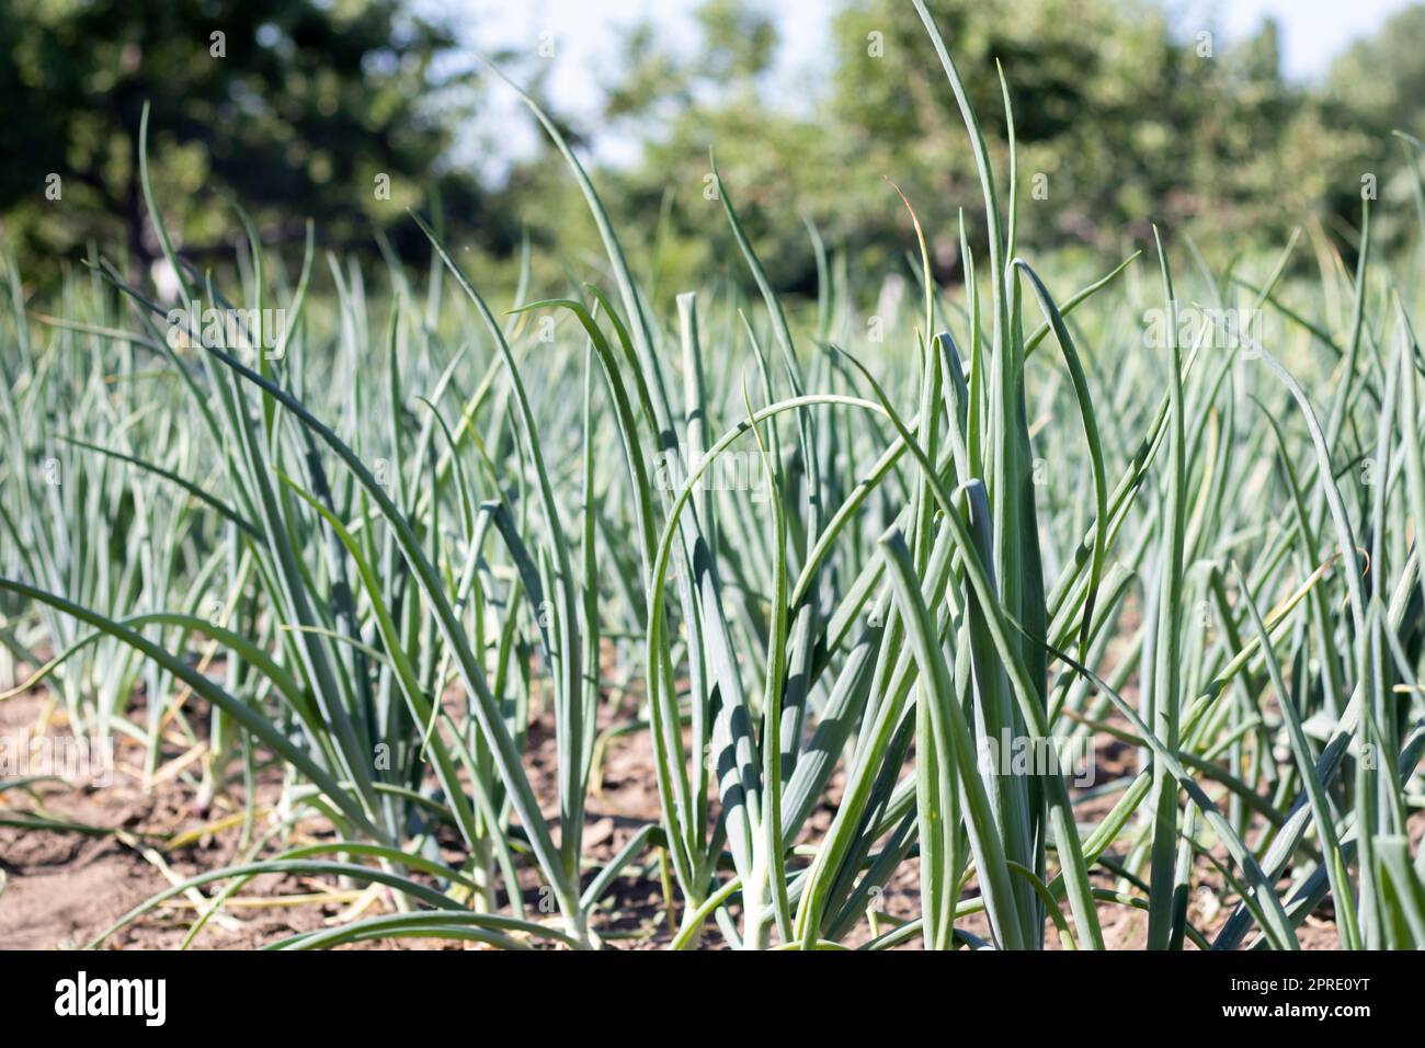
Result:
<instances>
[{"instance_id":1,"label":"whole field of tall green onion plants growing from soil","mask_svg":"<svg viewBox=\"0 0 1425 1048\"><path fill-rule=\"evenodd\" d=\"M784 302L715 164L740 277L661 301L523 93L587 281L536 292L526 254L490 295L439 215L425 274L311 232L289 269L238 205L238 264L200 271L147 115L180 304L237 337L97 257L40 311L7 264L0 642L74 730L150 771L177 731L204 803L248 787L239 860L115 928L214 885L192 941L285 873L392 907L274 948L594 948L657 860L674 948L1102 950L1113 907L1161 950L1295 948L1322 907L1345 948L1425 945L1419 304L1369 211L1354 260L1318 245L1330 294L1295 237L1261 275L1171 231L1059 274L1017 241L1006 77L998 151L915 6L980 201L942 287L889 194L919 294L884 344L814 227L818 299ZM657 820L594 858L600 739L644 731ZM1129 770L1084 788L1066 754L1110 741ZM881 913L906 870L916 915Z\"/></svg>"}]
</instances>

